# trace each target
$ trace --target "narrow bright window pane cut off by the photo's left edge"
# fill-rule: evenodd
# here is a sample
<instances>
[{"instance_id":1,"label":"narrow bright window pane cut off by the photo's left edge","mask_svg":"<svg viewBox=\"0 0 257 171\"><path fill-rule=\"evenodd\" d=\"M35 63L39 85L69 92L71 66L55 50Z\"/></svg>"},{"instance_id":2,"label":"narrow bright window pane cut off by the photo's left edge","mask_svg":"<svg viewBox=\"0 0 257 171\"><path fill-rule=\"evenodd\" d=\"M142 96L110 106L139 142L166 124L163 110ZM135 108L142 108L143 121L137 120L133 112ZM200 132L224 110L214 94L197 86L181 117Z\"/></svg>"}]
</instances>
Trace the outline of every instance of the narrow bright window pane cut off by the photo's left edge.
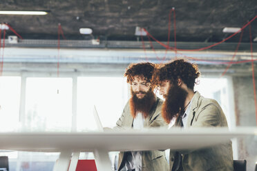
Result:
<instances>
[{"instance_id":1,"label":"narrow bright window pane cut off by the photo's left edge","mask_svg":"<svg viewBox=\"0 0 257 171\"><path fill-rule=\"evenodd\" d=\"M0 77L0 131L19 128L21 77Z\"/></svg>"}]
</instances>

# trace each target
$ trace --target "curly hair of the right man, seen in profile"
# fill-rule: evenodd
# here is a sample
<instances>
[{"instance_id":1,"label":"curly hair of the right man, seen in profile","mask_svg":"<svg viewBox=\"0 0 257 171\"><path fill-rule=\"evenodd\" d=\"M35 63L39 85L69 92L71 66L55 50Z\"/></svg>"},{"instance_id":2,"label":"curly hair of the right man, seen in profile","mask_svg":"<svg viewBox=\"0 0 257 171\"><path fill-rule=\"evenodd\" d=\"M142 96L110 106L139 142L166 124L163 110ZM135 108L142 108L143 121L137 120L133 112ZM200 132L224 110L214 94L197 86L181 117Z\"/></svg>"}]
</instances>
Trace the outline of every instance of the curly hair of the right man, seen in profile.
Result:
<instances>
[{"instance_id":1,"label":"curly hair of the right man, seen in profile","mask_svg":"<svg viewBox=\"0 0 257 171\"><path fill-rule=\"evenodd\" d=\"M200 77L200 71L196 63L177 59L158 66L153 74L152 83L158 86L164 80L178 83L178 79L182 79L187 87L193 90L198 77Z\"/></svg>"}]
</instances>

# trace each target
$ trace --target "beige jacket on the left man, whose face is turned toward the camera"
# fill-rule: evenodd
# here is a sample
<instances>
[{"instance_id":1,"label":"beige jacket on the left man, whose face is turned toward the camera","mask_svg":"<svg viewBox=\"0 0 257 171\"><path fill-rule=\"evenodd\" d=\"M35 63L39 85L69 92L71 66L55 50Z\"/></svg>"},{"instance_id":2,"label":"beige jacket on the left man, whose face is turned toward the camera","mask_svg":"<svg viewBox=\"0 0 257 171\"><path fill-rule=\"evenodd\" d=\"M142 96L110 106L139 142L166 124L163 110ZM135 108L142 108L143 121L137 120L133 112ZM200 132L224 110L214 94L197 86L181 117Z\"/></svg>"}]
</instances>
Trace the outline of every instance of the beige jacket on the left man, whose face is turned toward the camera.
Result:
<instances>
[{"instance_id":1,"label":"beige jacket on the left man, whose face is turned toward the camera","mask_svg":"<svg viewBox=\"0 0 257 171\"><path fill-rule=\"evenodd\" d=\"M161 109L163 101L157 97L157 101L147 117L144 120L144 128L150 127L162 127L167 126L162 119ZM131 116L131 110L129 104L126 103L122 116L116 123L116 128L132 128L133 117ZM126 152L120 152L118 170L124 167L126 159ZM169 165L165 158L165 152L159 150L143 151L142 152L142 171L167 171Z\"/></svg>"}]
</instances>

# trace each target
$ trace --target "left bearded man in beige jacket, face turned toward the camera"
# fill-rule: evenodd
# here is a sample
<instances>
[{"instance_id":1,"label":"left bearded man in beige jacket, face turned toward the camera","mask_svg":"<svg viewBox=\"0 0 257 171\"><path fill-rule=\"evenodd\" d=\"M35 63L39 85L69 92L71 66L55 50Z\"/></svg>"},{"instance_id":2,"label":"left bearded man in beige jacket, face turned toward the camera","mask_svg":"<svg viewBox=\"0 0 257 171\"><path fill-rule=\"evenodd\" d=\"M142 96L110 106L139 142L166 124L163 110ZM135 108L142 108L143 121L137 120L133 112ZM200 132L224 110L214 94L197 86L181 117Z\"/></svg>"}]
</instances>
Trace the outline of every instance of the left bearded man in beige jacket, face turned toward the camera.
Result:
<instances>
[{"instance_id":1,"label":"left bearded man in beige jacket, face turned toward the camera","mask_svg":"<svg viewBox=\"0 0 257 171\"><path fill-rule=\"evenodd\" d=\"M161 116L162 100L155 96L151 86L154 69L152 63L135 63L128 66L124 76L131 85L131 99L126 103L116 128L140 130L166 126ZM167 171L169 165L163 151L120 152L118 170Z\"/></svg>"}]
</instances>

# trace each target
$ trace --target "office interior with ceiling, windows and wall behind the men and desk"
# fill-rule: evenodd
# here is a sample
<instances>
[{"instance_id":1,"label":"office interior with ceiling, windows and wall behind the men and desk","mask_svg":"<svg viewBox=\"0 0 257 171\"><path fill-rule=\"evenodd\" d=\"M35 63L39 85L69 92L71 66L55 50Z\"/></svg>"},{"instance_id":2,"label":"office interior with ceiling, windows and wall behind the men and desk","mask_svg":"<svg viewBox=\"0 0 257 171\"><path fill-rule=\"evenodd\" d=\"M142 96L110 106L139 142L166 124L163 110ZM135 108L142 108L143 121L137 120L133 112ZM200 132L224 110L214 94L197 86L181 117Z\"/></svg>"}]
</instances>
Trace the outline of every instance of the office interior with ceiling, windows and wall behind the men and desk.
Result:
<instances>
[{"instance_id":1,"label":"office interior with ceiling, windows and wall behind the men and desk","mask_svg":"<svg viewBox=\"0 0 257 171\"><path fill-rule=\"evenodd\" d=\"M96 131L94 105L113 128L131 96L128 65L173 59L198 64L195 90L218 101L229 129L256 128L256 9L240 0L3 1L1 11L46 14L0 14L0 132ZM257 136L232 142L234 159L254 170ZM59 152L0 156L10 171L53 170Z\"/></svg>"}]
</instances>

